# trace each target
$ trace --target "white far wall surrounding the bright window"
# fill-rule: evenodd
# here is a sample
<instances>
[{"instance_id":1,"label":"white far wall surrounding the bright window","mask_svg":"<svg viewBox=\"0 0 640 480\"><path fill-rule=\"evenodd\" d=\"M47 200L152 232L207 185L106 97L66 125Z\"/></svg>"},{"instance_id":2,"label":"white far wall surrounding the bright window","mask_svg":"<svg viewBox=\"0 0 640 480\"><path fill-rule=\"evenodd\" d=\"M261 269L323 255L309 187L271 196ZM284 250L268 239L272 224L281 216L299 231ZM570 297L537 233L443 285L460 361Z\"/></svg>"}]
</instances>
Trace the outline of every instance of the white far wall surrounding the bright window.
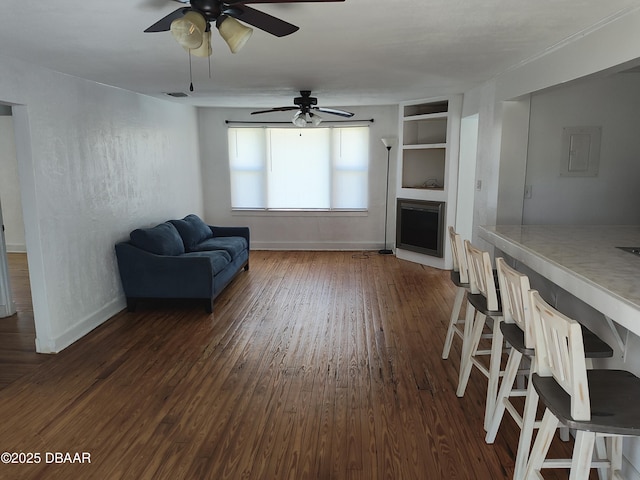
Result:
<instances>
[{"instance_id":1,"label":"white far wall surrounding the bright window","mask_svg":"<svg viewBox=\"0 0 640 480\"><path fill-rule=\"evenodd\" d=\"M341 107L343 108L343 107ZM200 108L200 149L205 217L220 225L246 225L251 228L255 249L379 249L384 244L384 207L387 149L381 138L398 136L398 106L344 107L354 119L374 119L370 124L369 211L362 213L259 213L231 211L227 125L233 121L290 121L291 114L251 116L251 110ZM329 115L323 115L329 120ZM338 117L336 117L338 119ZM387 242L395 239L396 153L391 151L389 172L389 218ZM301 152L300 161L304 161Z\"/></svg>"}]
</instances>

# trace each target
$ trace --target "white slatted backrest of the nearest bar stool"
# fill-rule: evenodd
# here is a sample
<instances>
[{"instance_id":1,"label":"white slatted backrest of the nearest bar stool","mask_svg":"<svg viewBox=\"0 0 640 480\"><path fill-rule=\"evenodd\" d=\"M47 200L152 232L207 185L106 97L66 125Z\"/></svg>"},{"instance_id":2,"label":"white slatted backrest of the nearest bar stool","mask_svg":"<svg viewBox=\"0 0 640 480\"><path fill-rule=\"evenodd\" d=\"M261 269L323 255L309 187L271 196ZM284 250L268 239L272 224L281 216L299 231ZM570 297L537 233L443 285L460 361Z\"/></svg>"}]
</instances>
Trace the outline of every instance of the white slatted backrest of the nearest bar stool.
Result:
<instances>
[{"instance_id":1,"label":"white slatted backrest of the nearest bar stool","mask_svg":"<svg viewBox=\"0 0 640 480\"><path fill-rule=\"evenodd\" d=\"M582 327L530 290L531 319L536 338L537 374L551 377L571 397L574 420L591 420L589 384Z\"/></svg>"}]
</instances>

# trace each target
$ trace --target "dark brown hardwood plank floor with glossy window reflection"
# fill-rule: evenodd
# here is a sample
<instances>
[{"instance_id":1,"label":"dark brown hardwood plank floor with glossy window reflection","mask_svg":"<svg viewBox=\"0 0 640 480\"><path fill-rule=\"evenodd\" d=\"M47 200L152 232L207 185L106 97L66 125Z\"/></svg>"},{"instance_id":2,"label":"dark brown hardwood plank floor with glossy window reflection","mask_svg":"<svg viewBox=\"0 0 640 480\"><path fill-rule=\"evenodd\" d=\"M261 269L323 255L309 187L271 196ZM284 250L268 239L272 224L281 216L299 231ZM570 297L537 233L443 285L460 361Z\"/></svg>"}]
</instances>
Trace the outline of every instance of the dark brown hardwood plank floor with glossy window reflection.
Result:
<instances>
[{"instance_id":1,"label":"dark brown hardwood plank floor with glossy window reflection","mask_svg":"<svg viewBox=\"0 0 640 480\"><path fill-rule=\"evenodd\" d=\"M41 462L0 478L511 478L517 426L487 445L486 379L459 399L460 342L440 358L454 294L394 256L254 251L213 314L141 304L49 356L29 353L25 301L1 321L0 451Z\"/></svg>"}]
</instances>

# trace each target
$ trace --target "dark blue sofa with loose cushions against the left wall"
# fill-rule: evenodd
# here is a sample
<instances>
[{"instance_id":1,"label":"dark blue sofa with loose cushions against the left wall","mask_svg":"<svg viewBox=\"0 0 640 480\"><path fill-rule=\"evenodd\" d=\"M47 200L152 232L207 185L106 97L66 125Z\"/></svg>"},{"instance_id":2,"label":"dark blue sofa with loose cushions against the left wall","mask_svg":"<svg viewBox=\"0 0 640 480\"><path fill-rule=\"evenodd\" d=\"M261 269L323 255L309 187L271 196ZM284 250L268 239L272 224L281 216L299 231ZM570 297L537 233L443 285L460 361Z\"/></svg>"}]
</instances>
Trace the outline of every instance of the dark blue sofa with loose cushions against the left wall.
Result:
<instances>
[{"instance_id":1,"label":"dark blue sofa with loose cushions against the left wall","mask_svg":"<svg viewBox=\"0 0 640 480\"><path fill-rule=\"evenodd\" d=\"M136 229L115 249L129 311L138 300L191 298L211 313L235 275L249 270L249 228L211 226L197 215Z\"/></svg>"}]
</instances>

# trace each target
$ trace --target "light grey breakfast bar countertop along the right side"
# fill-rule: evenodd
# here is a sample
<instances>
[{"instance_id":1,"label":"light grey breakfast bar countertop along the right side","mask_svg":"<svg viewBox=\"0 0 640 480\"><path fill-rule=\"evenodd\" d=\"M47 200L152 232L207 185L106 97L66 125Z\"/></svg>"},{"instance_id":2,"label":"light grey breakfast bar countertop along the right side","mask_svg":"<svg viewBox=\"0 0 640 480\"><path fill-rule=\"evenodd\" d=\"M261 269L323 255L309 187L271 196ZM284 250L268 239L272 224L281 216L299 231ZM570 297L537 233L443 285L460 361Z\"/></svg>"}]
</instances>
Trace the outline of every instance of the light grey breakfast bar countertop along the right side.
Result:
<instances>
[{"instance_id":1,"label":"light grey breakfast bar countertop along the right side","mask_svg":"<svg viewBox=\"0 0 640 480\"><path fill-rule=\"evenodd\" d=\"M639 225L483 226L480 237L640 335Z\"/></svg>"}]
</instances>

